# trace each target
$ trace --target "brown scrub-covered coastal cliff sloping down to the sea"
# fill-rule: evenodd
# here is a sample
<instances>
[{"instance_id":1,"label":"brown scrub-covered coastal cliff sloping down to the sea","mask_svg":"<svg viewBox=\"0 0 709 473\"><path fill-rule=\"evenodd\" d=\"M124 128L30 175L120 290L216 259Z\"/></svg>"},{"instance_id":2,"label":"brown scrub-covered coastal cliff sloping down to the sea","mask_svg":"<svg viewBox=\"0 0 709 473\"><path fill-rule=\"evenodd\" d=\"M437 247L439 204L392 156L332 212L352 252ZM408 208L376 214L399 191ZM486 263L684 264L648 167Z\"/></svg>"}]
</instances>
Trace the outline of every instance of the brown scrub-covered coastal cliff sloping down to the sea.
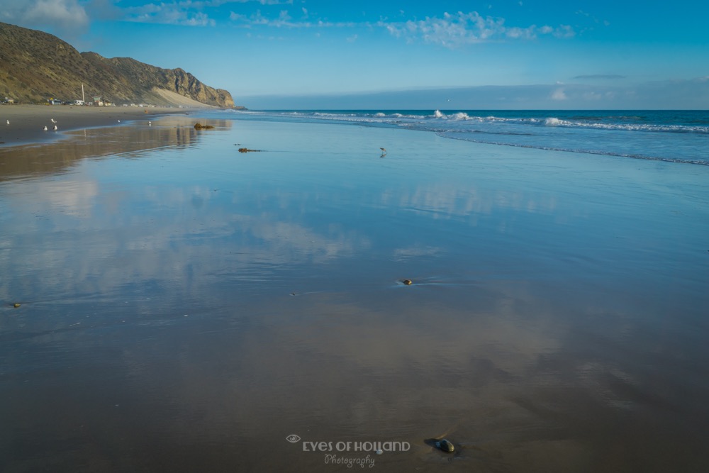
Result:
<instances>
[{"instance_id":1,"label":"brown scrub-covered coastal cliff sloping down to the sea","mask_svg":"<svg viewBox=\"0 0 709 473\"><path fill-rule=\"evenodd\" d=\"M0 99L43 103L50 98L174 106L177 94L200 104L233 107L228 91L200 82L184 69L163 69L130 57L79 52L43 31L0 23ZM174 94L165 94L163 91Z\"/></svg>"}]
</instances>

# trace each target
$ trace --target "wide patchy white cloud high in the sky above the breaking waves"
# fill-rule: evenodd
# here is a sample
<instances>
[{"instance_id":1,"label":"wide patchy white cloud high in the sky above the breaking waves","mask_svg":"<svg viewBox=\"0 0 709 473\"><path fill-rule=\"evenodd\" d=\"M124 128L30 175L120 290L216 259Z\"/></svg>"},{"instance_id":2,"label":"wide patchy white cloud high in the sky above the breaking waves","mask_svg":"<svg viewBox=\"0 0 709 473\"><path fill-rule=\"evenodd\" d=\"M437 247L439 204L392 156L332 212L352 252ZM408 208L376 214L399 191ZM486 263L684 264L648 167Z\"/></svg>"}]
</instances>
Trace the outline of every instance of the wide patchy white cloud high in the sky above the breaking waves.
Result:
<instances>
[{"instance_id":1,"label":"wide patchy white cloud high in the sky above the breaking waves","mask_svg":"<svg viewBox=\"0 0 709 473\"><path fill-rule=\"evenodd\" d=\"M557 38L574 36L571 26L506 26L504 18L481 16L476 11L470 13L443 13L442 18L427 16L424 20L406 21L405 23L385 23L389 33L409 42L423 40L425 43L456 48L461 45L484 43L492 40L531 40L538 35L554 35Z\"/></svg>"}]
</instances>

